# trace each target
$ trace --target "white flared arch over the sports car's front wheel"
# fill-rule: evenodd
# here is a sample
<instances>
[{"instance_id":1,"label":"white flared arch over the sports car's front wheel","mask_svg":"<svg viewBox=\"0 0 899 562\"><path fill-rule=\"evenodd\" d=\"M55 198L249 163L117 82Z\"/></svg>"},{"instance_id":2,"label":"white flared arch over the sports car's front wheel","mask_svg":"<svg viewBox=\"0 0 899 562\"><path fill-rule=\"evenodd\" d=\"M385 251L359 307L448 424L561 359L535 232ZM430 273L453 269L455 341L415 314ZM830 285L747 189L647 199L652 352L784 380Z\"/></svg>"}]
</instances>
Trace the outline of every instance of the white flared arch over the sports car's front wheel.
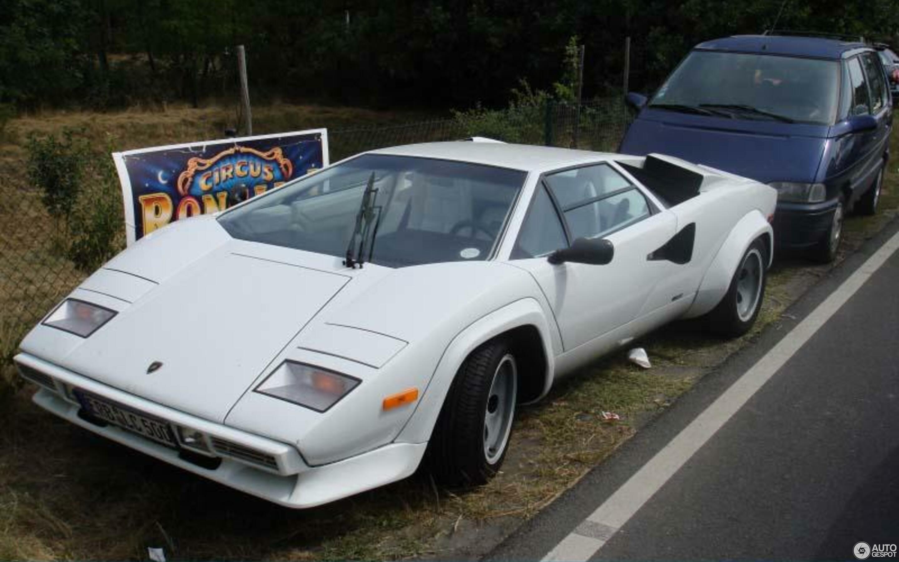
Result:
<instances>
[{"instance_id":1,"label":"white flared arch over the sports car's front wheel","mask_svg":"<svg viewBox=\"0 0 899 562\"><path fill-rule=\"evenodd\" d=\"M540 393L541 397L545 395L552 385L554 370L550 326L537 300L519 299L481 317L453 338L443 352L431 382L422 393L418 407L399 435L396 436L395 442L421 443L431 439L437 416L440 415L443 401L449 392L449 385L468 355L475 351L477 346L497 335L513 328L529 325L537 328L543 344L544 356L547 359L546 370L543 372L543 391Z\"/></svg>"}]
</instances>

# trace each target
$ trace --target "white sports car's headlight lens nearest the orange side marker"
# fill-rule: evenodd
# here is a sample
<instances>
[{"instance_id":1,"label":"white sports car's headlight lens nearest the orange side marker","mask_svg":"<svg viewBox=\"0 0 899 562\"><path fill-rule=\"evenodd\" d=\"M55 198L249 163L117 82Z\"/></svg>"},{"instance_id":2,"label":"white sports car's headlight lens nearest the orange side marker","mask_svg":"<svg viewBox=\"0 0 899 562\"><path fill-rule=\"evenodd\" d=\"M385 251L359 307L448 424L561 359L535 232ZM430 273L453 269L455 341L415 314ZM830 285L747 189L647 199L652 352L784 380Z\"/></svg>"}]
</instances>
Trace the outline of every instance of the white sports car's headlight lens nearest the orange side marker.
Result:
<instances>
[{"instance_id":1,"label":"white sports car's headlight lens nearest the orange side marker","mask_svg":"<svg viewBox=\"0 0 899 562\"><path fill-rule=\"evenodd\" d=\"M359 379L294 361L284 361L256 392L325 412L360 383Z\"/></svg>"}]
</instances>

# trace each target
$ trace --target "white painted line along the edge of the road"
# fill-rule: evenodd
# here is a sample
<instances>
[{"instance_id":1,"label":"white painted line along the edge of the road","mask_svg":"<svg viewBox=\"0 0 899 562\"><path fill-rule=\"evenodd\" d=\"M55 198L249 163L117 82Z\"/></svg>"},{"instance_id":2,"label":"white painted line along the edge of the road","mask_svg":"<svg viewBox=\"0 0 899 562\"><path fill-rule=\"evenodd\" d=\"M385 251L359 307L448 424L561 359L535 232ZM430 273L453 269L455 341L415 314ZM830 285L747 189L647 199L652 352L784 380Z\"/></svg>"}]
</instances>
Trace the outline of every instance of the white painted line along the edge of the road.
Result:
<instances>
[{"instance_id":1,"label":"white painted line along the edge of the road","mask_svg":"<svg viewBox=\"0 0 899 562\"><path fill-rule=\"evenodd\" d=\"M585 521L610 528L604 539L584 537L572 531L549 551L543 560L589 560L634 516L674 474L701 448L709 438L729 420L783 365L801 348L821 326L839 310L865 281L886 263L899 249L899 233L862 263L858 270L841 283L827 299L809 313L802 322L757 361L724 394L717 397L696 419L681 430L671 442L657 452L642 468L628 479L614 494L591 513ZM583 522L582 522L583 525ZM581 525L578 529L582 529Z\"/></svg>"}]
</instances>

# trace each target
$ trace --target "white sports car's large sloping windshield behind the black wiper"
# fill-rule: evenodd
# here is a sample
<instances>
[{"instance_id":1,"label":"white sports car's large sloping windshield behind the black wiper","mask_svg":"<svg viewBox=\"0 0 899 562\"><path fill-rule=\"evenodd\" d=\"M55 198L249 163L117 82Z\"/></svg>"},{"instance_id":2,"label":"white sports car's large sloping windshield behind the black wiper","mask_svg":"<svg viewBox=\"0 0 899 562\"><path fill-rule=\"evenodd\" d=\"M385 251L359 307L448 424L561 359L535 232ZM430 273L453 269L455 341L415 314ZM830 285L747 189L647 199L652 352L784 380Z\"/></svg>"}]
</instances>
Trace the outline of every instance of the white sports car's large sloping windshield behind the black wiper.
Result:
<instances>
[{"instance_id":1,"label":"white sports car's large sloping windshield behind the black wiper","mask_svg":"<svg viewBox=\"0 0 899 562\"><path fill-rule=\"evenodd\" d=\"M526 175L432 158L362 155L251 200L218 221L242 240L343 257L371 183L378 190L377 226L367 261L404 267L484 260Z\"/></svg>"}]
</instances>

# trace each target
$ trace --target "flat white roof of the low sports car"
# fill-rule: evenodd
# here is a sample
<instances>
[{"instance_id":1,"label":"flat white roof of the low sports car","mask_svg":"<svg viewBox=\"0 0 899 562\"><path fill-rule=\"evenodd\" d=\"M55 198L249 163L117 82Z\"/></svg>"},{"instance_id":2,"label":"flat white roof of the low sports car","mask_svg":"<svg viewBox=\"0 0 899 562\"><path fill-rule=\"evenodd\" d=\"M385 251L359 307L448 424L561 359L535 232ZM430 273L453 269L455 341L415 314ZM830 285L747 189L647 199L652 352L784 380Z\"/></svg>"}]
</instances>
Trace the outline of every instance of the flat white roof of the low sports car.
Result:
<instances>
[{"instance_id":1,"label":"flat white roof of the low sports car","mask_svg":"<svg viewBox=\"0 0 899 562\"><path fill-rule=\"evenodd\" d=\"M429 142L402 147L379 148L378 150L369 151L368 154L456 160L528 172L595 162L598 159L608 159L614 156L610 153L574 150L571 148L538 147L534 145L513 145L470 140Z\"/></svg>"}]
</instances>

